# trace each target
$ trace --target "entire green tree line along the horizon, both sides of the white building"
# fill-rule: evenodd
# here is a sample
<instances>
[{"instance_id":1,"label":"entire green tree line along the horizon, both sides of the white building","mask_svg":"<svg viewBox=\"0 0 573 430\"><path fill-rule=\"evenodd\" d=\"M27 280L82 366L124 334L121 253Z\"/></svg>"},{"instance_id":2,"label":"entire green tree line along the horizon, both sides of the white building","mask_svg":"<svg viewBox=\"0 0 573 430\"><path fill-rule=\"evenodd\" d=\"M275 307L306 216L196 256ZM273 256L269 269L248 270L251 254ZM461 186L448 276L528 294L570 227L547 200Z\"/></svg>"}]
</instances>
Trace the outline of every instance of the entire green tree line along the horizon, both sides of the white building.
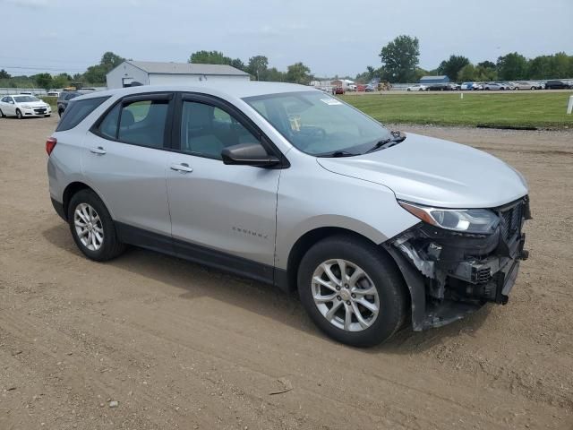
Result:
<instances>
[{"instance_id":1,"label":"entire green tree line along the horizon, both sides of the white building","mask_svg":"<svg viewBox=\"0 0 573 430\"><path fill-rule=\"evenodd\" d=\"M356 82L370 82L378 78L392 83L417 82L424 75L445 74L451 81L526 81L573 77L573 56L558 52L549 56L526 58L517 52L499 56L495 62L485 60L472 64L466 56L451 55L437 68L424 70L419 66L420 41L411 36L400 35L380 51L381 65L369 65L366 71L355 76ZM31 76L12 76L0 70L0 87L12 88L64 88L73 82L84 85L106 84L106 74L125 58L113 52L106 52L98 64L90 65L84 73L38 73ZM310 67L298 62L280 71L269 67L267 56L251 56L247 61L226 56L219 51L196 51L188 60L192 64L228 64L251 75L254 81L310 83L314 77ZM338 75L335 76L338 78ZM350 76L346 76L350 78Z\"/></svg>"}]
</instances>

